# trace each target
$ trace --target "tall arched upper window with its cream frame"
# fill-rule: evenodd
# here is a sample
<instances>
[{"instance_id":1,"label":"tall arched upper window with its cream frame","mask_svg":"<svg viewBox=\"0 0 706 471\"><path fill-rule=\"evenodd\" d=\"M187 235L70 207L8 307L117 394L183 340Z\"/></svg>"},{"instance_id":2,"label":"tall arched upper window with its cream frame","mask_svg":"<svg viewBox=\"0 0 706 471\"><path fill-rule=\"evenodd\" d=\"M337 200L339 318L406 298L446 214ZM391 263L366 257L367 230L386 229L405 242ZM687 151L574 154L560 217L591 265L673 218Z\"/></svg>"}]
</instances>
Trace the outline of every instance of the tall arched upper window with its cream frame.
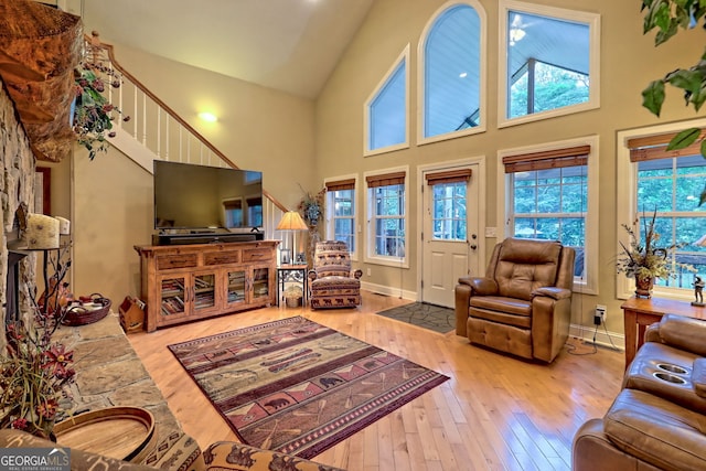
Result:
<instances>
[{"instance_id":1,"label":"tall arched upper window with its cream frame","mask_svg":"<svg viewBox=\"0 0 706 471\"><path fill-rule=\"evenodd\" d=\"M485 130L485 12L453 2L431 19L419 45L419 141Z\"/></svg>"}]
</instances>

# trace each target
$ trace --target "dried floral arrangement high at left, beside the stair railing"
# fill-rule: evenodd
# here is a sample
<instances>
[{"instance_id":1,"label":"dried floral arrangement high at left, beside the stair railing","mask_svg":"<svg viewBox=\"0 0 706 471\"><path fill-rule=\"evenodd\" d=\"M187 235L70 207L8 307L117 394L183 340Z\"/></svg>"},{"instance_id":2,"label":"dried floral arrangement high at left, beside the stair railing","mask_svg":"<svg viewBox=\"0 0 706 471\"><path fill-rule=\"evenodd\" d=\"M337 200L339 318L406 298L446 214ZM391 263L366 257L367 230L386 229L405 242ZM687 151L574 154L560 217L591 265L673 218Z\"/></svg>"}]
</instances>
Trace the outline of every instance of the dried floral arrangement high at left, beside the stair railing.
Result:
<instances>
[{"instance_id":1,"label":"dried floral arrangement high at left, beside the stair railing","mask_svg":"<svg viewBox=\"0 0 706 471\"><path fill-rule=\"evenodd\" d=\"M92 33L92 41L86 43L84 58L74 71L76 100L73 113L73 129L78 143L88 150L93 160L97 152L106 152L109 143L106 138L115 137L113 121L122 111L114 106L105 95L108 87L118 88L121 77L105 58L99 46L98 33ZM129 116L122 120L128 121Z\"/></svg>"}]
</instances>

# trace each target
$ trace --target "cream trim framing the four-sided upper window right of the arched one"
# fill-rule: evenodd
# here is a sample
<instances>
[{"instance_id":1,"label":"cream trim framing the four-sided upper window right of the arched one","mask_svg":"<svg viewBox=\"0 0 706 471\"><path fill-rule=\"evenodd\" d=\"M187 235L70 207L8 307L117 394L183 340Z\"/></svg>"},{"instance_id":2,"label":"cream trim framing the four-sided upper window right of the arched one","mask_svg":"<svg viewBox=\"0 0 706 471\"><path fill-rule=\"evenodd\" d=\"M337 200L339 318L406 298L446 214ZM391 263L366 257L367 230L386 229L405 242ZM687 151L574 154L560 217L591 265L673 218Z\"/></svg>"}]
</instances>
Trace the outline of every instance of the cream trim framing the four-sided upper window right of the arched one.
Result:
<instances>
[{"instance_id":1,"label":"cream trim framing the four-sided upper window right of the arched one","mask_svg":"<svg viewBox=\"0 0 706 471\"><path fill-rule=\"evenodd\" d=\"M563 21L587 23L589 26L589 95L588 101L578 105L565 106L546 111L524 115L517 118L507 118L507 15L510 11L524 11L530 14L549 17ZM499 2L499 46L498 61L498 127L523 125L557 116L573 115L575 113L587 111L600 108L600 14L579 10L569 10L557 7L547 7L534 3L525 3L516 0L500 0Z\"/></svg>"}]
</instances>

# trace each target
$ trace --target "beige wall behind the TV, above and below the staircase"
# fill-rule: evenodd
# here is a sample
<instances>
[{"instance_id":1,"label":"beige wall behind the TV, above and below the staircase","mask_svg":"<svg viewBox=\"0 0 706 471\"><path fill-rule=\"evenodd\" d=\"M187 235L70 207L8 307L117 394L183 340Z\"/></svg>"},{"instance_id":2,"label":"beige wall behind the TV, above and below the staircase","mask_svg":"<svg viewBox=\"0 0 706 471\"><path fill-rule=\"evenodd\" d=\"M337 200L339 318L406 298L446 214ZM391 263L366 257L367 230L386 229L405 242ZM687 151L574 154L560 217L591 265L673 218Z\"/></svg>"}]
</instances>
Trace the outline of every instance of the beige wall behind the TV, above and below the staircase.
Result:
<instances>
[{"instance_id":1,"label":"beige wall behind the TV, above and below the staircase","mask_svg":"<svg viewBox=\"0 0 706 471\"><path fill-rule=\"evenodd\" d=\"M318 189L311 100L119 45L116 57L239 168L263 171L265 189L287 207L302 196L298 183ZM201 104L214 106L220 117L215 126L196 118ZM76 147L71 188L73 290L99 291L116 306L127 295L140 296L139 257L132 247L151 243L151 173L115 148L89 161Z\"/></svg>"}]
</instances>

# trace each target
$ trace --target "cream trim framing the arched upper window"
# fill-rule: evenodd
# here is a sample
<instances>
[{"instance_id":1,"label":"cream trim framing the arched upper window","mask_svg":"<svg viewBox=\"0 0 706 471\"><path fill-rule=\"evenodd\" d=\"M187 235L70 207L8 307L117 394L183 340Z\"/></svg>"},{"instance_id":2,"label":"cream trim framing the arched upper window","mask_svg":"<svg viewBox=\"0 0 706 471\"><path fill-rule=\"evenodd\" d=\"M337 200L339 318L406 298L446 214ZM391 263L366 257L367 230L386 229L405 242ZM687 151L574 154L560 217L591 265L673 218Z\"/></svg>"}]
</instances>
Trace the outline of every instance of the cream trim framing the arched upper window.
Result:
<instances>
[{"instance_id":1,"label":"cream trim framing the arched upper window","mask_svg":"<svg viewBox=\"0 0 706 471\"><path fill-rule=\"evenodd\" d=\"M480 71L479 71L479 107L480 107L480 118L481 124L474 128L467 128L460 131L451 131L446 132L443 135L437 135L431 137L424 136L425 128L425 90L426 90L426 76L425 76L425 64L426 64L426 54L425 46L427 44L427 39L429 38L429 33L434 28L436 21L439 19L441 14L443 14L447 10L458 6L467 6L471 7L478 13L480 19L480 41L479 41L479 55L480 55ZM477 0L461 0L461 1L448 1L443 3L441 7L434 12L434 14L427 21L427 24L421 30L421 34L419 36L419 42L417 43L417 144L424 146L427 143L445 141L449 139L456 139L463 136L478 135L481 132L485 132L488 128L488 17L485 14L485 9L483 6Z\"/></svg>"}]
</instances>

